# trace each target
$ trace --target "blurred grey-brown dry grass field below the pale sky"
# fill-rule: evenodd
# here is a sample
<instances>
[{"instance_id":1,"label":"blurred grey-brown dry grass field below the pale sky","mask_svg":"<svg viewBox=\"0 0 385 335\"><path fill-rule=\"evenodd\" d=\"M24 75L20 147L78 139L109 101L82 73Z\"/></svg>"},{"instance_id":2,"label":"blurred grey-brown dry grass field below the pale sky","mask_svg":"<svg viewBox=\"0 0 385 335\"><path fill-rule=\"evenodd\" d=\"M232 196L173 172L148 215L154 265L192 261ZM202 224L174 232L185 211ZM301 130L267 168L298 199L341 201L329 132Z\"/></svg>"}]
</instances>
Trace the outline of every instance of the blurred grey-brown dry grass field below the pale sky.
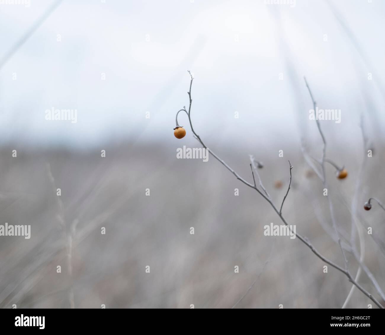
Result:
<instances>
[{"instance_id":1,"label":"blurred grey-brown dry grass field below the pale sky","mask_svg":"<svg viewBox=\"0 0 385 335\"><path fill-rule=\"evenodd\" d=\"M206 163L176 159L174 150L153 145L103 149L105 158L96 149L19 149L17 158L12 158L11 149L2 150L1 157L6 158L0 161L0 224L30 224L32 236L29 240L0 237L1 308L12 304L68 308L71 287L75 308L100 308L101 304L107 308L189 308L190 304L230 308L256 278L237 307L341 308L351 287L346 277L331 267L323 273L325 264L298 239L265 237L263 226L281 224L278 217L261 196L213 157ZM248 152L225 149L219 154L251 181ZM285 151L285 159L257 157L265 165L260 170L264 185L280 203L288 186L286 157L294 169L293 187L283 208L285 217L322 254L342 264L338 245L316 217L319 210L330 222L321 183L308 173L301 153ZM385 200L378 174L383 153L376 157L365 176L367 189L359 196L362 204L368 195ZM348 237L361 157L345 151L341 158L349 169L348 178L338 181L329 166L327 173L337 222ZM60 228L47 162L56 186L62 189L67 237L70 225L78 220L72 244L72 280L66 263L66 234ZM274 188L277 180L283 183L279 189ZM146 188L150 196L145 195ZM239 196L234 196L235 188ZM313 206L315 203L318 205ZM381 242L385 213L378 208L363 213L361 207L358 212L363 226L373 227L378 242L365 233L365 263L385 289ZM100 233L101 227L106 227L106 235ZM190 227L194 227L194 235L190 235ZM351 255L349 261L355 274L357 262ZM57 265L62 267L60 274ZM234 273L236 265L239 273ZM378 298L365 274L360 283ZM348 307L367 308L369 303L356 289Z\"/></svg>"}]
</instances>

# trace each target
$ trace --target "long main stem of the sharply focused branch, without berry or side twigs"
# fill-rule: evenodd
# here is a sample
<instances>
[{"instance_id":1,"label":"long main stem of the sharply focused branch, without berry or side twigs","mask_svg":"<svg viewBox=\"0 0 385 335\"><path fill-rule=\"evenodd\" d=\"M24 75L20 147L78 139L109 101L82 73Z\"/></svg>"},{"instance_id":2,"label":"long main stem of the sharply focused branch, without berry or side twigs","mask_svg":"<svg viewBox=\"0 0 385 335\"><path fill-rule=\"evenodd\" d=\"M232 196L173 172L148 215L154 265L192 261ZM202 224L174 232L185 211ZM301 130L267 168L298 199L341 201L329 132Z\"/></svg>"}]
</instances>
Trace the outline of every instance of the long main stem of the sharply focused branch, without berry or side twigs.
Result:
<instances>
[{"instance_id":1,"label":"long main stem of the sharply focused branch, without berry or side twigs","mask_svg":"<svg viewBox=\"0 0 385 335\"><path fill-rule=\"evenodd\" d=\"M190 73L190 71L189 71ZM251 184L249 183L248 181L246 181L245 179L243 179L241 176L239 176L238 173L236 173L231 167L228 166L228 164L226 164L222 159L220 159L216 154L213 153L213 151L211 151L211 149L209 149L205 144L204 142L201 140L201 138L199 137L199 135L195 132L194 128L192 127L192 121L191 121L191 103L192 103L192 98L191 98L191 86L192 86L192 81L194 80L193 76L191 75L190 73L190 77L191 77L191 81L190 81L190 90L187 92L188 95L189 95L189 100L190 100L190 104L189 104L189 111L188 111L188 117L189 117L189 122L190 122L190 127L191 127L191 131L192 133L195 135L196 139L201 143L201 145L206 148L210 154L213 155L213 157L215 159L217 159L219 162L221 162L221 164L223 164L224 167L226 167L226 169L228 169L232 174L234 174L234 176L239 180L241 181L242 183L244 183L245 185L249 186L250 188L253 188L255 189L266 201L268 201L268 203L272 206L273 210L277 213L277 215L280 217L280 219L282 220L282 222L286 225L286 226L289 226L288 222L285 220L285 218L282 216L282 213L280 213L280 211L278 211L277 207L274 205L274 203L271 201L271 199L269 199L263 192L261 192L256 186L255 186L255 182L254 184ZM322 134L322 132L321 132ZM322 135L323 136L323 135ZM325 151L325 148L324 148L324 151ZM255 181L255 179L254 179ZM289 226L290 228L290 226ZM371 299L379 308L383 308L383 306L377 301L377 299L375 297L372 296L372 294L370 294L368 291L366 291L360 284L358 284L354 279L353 277L350 275L350 273L346 270L346 269L343 269L342 267L338 266L337 264L335 264L334 262L330 261L329 259L327 259L325 256L321 255L320 252L318 252L315 247L310 243L310 241L305 238L305 237L302 237L300 234L298 233L295 233L296 237L301 240L301 242L303 242L304 244L306 244L310 249L311 251L318 257L320 258L322 261L326 262L327 264L329 264L330 266L334 267L335 269L337 269L338 271L342 272L343 274L345 274L349 281L351 281L355 286L357 286L357 288L363 293L365 294L369 299Z\"/></svg>"}]
</instances>

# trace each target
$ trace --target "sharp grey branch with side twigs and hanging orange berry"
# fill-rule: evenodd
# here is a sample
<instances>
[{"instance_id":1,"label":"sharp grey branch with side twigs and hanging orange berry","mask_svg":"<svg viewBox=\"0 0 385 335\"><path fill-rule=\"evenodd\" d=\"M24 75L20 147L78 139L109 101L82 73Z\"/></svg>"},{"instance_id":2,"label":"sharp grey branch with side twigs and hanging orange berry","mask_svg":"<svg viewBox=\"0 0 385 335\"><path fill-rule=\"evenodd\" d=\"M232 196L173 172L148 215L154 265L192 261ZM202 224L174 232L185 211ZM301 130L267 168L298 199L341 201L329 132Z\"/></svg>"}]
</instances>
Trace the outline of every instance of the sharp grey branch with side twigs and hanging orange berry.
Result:
<instances>
[{"instance_id":1,"label":"sharp grey branch with side twigs and hanging orange berry","mask_svg":"<svg viewBox=\"0 0 385 335\"><path fill-rule=\"evenodd\" d=\"M214 154L214 152L209 149L204 143L203 141L201 140L201 138L199 137L199 135L195 132L194 128L192 127L192 122L191 122L191 104L192 104L192 98L191 98L191 86L192 86L192 81L194 80L194 77L192 76L191 72L188 71L189 74L190 74L190 77L191 77L191 81L190 81L190 89L189 91L187 92L188 95L189 95L189 108L188 108L188 112L186 110L186 107L183 107L181 110L179 110L177 112L177 115L176 115L176 133L175 136L177 138L182 138L184 137L184 134L185 134L185 131L183 129L183 134L182 135L178 135L180 133L180 128L182 128L181 126L179 126L178 122L177 122L177 116L178 116L178 113L181 112L181 111L184 111L186 112L188 118L189 118L189 122L190 122L190 127L191 127L191 131L192 133L194 134L194 136L196 137L196 139L202 144L202 146L204 148L206 148L211 155L213 155L219 162L221 162L221 164L223 164L224 167L226 167L231 173L234 174L234 176L240 180L242 183L244 183L245 185L249 186L250 188L253 188L255 189L274 209L274 211L277 213L277 215L281 218L282 222L286 225L286 226L289 226L288 222L286 221L286 219L283 217L282 215L282 207L283 207L283 203L285 202L285 199L286 199L286 196L288 195L288 192L290 190L290 184L291 184L291 169L292 169L292 166L289 162L289 166L290 166L290 184L289 184L289 187L288 187L288 190L286 192L286 195L285 197L283 198L283 201L281 203L281 206L279 207L280 209L278 209L278 207L273 203L273 201L271 200L271 197L269 196L269 194L266 192L266 190L264 189L263 187L263 184L262 184L262 181L259 177L259 174L258 174L258 171L256 171L255 167L253 167L252 164L250 164L251 166L251 174L252 174L252 177L253 177L253 183L249 183L248 181L246 181L244 178L242 178L241 176L239 176L238 173L236 173L228 164L226 164L226 162L224 162L221 158L219 158L216 154ZM307 85L307 83L306 83ZM308 86L308 85L307 85ZM310 91L310 88L308 86L308 89L309 89L309 93L311 95L311 91ZM313 96L311 95L311 99L313 101L313 104L315 105L315 101L313 99ZM321 168L322 168L322 179L323 179L323 182L325 183L326 182L326 177L325 177L325 168L324 168L324 162L325 162L325 149L326 149L326 140L325 140L325 137L323 135L323 133L321 132L321 129L320 129L320 125L319 123L317 122L317 127L318 127L318 130L320 132L320 135L322 137L322 140L323 140L323 143L324 143L324 147L323 147L323 156L322 156L322 159L320 161L320 164L321 164ZM179 130L179 132L178 132ZM178 137L179 136L179 137ZM256 181L255 181L255 175L254 175L254 172L255 174L257 175L258 179L259 179L259 186L261 187L261 189L259 189L257 187L257 184L256 184ZM330 202L331 200L329 200ZM330 202L330 208L331 207L331 202ZM333 220L334 221L334 220ZM290 226L289 226L290 228ZM341 248L341 252L342 252L342 255L343 255L343 260L344 260L344 263L345 263L345 268L343 267L340 267L339 265L335 264L334 262L330 261L329 259L327 259L326 257L324 257L323 255L321 255L316 249L315 247L310 243L310 241L306 238L306 237L302 237L300 234L298 233L295 233L296 237L298 237L298 239L301 240L301 242L303 242L304 244L306 244L310 249L311 251L318 257L320 258L321 260L323 260L324 262L326 262L327 264L331 265L332 267L334 267L335 269L337 269L338 271L342 272L343 274L346 275L346 277L348 277L349 281L352 282L363 294L365 294L368 298L370 298L379 308L383 308L383 306L377 301L376 298L374 298L372 296L372 294L370 294L368 291L366 291L360 284L357 283L357 281L355 281L355 279L352 277L352 275L350 274L349 270L348 270L348 264L347 264L347 261L346 261L346 257L345 257L345 253L344 253L344 250L341 246L341 240L340 240L340 237L339 237L339 234L338 234L338 230L337 230L337 227L336 227L336 224L335 222L333 222L333 228L335 229L335 232L336 232L336 235L337 235L337 238L338 238L338 244L340 245L340 248Z\"/></svg>"}]
</instances>

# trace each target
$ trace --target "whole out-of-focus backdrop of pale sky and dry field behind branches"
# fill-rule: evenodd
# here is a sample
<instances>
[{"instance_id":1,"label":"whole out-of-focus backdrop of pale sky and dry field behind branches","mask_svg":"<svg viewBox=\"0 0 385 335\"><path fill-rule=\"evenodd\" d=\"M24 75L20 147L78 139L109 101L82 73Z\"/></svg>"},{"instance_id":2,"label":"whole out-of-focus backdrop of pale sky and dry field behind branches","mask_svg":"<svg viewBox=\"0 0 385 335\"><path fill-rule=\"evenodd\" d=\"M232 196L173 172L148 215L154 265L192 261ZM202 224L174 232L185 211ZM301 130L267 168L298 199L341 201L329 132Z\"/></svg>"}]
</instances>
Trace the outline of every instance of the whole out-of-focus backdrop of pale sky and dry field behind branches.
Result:
<instances>
[{"instance_id":1,"label":"whole out-of-focus backdrop of pale sky and dry field behind branches","mask_svg":"<svg viewBox=\"0 0 385 335\"><path fill-rule=\"evenodd\" d=\"M326 166L328 196L353 277L364 264L358 282L385 304L385 212L363 210L385 201L384 2L15 2L0 2L0 225L31 225L31 238L0 236L1 308L373 304L357 289L347 299L346 276L300 240L264 236L279 217L213 156L176 158L200 147L186 114L186 137L173 135L187 70L204 143L249 183L249 154L262 161L278 207L290 159L283 214L343 266L304 159L322 141L303 77L320 109L341 110L320 121L327 156L348 170L339 180ZM46 120L52 108L77 122Z\"/></svg>"}]
</instances>

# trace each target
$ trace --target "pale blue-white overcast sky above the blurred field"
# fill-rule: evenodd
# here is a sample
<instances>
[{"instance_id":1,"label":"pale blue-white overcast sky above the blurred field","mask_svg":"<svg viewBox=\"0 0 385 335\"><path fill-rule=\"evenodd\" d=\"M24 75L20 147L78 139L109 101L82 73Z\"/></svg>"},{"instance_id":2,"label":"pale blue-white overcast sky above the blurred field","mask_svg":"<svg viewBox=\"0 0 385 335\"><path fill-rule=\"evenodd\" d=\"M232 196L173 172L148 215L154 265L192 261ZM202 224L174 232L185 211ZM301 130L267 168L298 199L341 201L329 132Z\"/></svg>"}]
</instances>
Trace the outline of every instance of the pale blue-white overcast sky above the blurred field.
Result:
<instances>
[{"instance_id":1,"label":"pale blue-white overcast sky above the blurred field","mask_svg":"<svg viewBox=\"0 0 385 335\"><path fill-rule=\"evenodd\" d=\"M0 4L0 59L52 3ZM249 142L311 133L303 76L319 108L341 109L340 124L328 121L338 133L356 132L360 113L383 125L385 2L331 3L340 22L326 1L64 0L0 69L0 139L173 140L187 69L206 137L213 127ZM51 108L76 109L77 123L46 120ZM186 115L179 124L189 132Z\"/></svg>"}]
</instances>

